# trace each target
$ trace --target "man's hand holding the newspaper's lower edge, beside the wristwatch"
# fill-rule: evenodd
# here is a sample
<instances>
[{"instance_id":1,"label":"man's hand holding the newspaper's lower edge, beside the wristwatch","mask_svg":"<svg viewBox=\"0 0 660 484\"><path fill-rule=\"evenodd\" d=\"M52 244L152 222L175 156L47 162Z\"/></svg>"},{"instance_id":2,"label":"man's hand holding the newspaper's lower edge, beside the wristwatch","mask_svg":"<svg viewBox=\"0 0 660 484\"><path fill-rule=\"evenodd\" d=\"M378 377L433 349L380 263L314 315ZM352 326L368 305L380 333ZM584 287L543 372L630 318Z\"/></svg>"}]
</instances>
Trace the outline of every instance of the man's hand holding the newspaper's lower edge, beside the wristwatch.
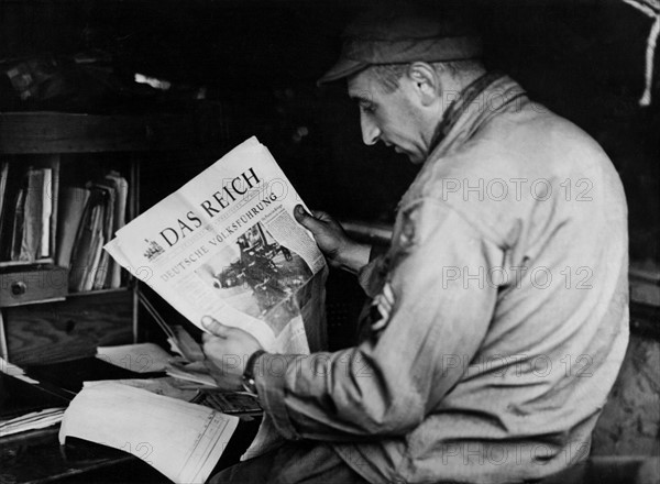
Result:
<instances>
[{"instance_id":1,"label":"man's hand holding the newspaper's lower edge, beside the wristwatch","mask_svg":"<svg viewBox=\"0 0 660 484\"><path fill-rule=\"evenodd\" d=\"M210 316L201 318L201 326L211 333L201 337L206 366L222 389L240 389L245 363L262 349L261 344L246 331L224 326Z\"/></svg>"}]
</instances>

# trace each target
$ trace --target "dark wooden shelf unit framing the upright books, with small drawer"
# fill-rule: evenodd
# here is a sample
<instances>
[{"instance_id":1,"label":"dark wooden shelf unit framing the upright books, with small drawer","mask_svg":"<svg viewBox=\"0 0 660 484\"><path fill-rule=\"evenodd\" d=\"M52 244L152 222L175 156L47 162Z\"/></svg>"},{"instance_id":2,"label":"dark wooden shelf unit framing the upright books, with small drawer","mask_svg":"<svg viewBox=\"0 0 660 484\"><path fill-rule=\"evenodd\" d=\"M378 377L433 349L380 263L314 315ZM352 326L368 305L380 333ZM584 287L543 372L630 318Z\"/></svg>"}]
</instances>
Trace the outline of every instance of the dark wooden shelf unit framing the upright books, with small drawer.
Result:
<instances>
[{"instance_id":1,"label":"dark wooden shelf unit framing the upright books, with small drawer","mask_svg":"<svg viewBox=\"0 0 660 484\"><path fill-rule=\"evenodd\" d=\"M186 103L176 113L0 112L0 158L18 165L59 166L63 154L122 153L117 158L128 170L127 219L132 220L139 213L139 166L150 158L146 152L224 146L229 130L221 108L200 101ZM108 165L112 157L101 156ZM99 156L72 156L66 169L75 170L79 163L88 176L98 161ZM119 289L69 293L62 267L4 265L0 270L0 355L18 363L50 363L94 355L98 345L136 342L139 288L134 282ZM55 276L57 283L52 283Z\"/></svg>"}]
</instances>

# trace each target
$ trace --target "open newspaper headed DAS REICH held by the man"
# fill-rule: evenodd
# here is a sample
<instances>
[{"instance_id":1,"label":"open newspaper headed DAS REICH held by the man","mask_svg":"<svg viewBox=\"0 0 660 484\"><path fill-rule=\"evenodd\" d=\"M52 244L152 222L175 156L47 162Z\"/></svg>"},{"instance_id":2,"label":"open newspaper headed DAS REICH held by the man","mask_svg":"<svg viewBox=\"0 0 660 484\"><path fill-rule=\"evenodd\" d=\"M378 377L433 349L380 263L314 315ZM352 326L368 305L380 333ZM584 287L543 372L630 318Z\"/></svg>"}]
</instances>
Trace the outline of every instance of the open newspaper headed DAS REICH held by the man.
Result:
<instances>
[{"instance_id":1,"label":"open newspaper headed DAS REICH held by the man","mask_svg":"<svg viewBox=\"0 0 660 484\"><path fill-rule=\"evenodd\" d=\"M249 331L267 351L305 353L299 293L326 262L294 219L298 204L253 136L105 249L198 327L209 315Z\"/></svg>"}]
</instances>

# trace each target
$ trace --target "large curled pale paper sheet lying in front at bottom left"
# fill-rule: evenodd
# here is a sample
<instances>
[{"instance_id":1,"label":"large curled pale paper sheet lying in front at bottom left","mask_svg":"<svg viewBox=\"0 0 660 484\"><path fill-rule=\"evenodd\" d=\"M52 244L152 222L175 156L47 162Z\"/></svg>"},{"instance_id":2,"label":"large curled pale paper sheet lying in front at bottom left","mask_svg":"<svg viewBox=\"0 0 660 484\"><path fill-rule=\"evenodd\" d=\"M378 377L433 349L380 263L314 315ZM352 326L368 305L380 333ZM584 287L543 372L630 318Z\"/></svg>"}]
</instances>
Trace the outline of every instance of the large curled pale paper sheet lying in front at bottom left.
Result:
<instances>
[{"instance_id":1,"label":"large curled pale paper sheet lying in front at bottom left","mask_svg":"<svg viewBox=\"0 0 660 484\"><path fill-rule=\"evenodd\" d=\"M133 453L175 483L204 483L238 417L111 382L87 382L67 408L59 442L77 437Z\"/></svg>"}]
</instances>

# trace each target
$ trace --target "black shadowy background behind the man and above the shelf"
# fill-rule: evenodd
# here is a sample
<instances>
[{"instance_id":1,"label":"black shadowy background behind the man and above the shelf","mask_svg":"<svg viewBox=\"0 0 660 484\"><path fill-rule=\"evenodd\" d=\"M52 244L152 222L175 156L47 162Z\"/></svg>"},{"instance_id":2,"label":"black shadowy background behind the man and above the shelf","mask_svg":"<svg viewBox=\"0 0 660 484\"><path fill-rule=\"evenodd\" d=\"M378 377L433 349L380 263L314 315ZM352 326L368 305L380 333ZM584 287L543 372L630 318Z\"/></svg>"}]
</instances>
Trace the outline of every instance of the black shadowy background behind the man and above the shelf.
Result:
<instances>
[{"instance_id":1,"label":"black shadowy background behind the man and above the shelf","mask_svg":"<svg viewBox=\"0 0 660 484\"><path fill-rule=\"evenodd\" d=\"M339 52L342 24L364 3L1 0L0 67L36 58L55 63L58 77L45 82L50 98L28 100L1 79L0 110L173 111L204 88L228 116L226 147L256 134L310 205L392 220L414 167L383 146L362 146L358 113L342 86L315 86ZM619 0L472 0L453 7L481 26L491 66L510 73L603 144L627 188L631 255L658 261L660 76L654 105L637 105L651 20ZM158 95L138 88L136 72L166 79L173 89ZM168 169L179 175L154 178L151 185L162 191L153 201L221 151L162 158L145 179Z\"/></svg>"}]
</instances>

